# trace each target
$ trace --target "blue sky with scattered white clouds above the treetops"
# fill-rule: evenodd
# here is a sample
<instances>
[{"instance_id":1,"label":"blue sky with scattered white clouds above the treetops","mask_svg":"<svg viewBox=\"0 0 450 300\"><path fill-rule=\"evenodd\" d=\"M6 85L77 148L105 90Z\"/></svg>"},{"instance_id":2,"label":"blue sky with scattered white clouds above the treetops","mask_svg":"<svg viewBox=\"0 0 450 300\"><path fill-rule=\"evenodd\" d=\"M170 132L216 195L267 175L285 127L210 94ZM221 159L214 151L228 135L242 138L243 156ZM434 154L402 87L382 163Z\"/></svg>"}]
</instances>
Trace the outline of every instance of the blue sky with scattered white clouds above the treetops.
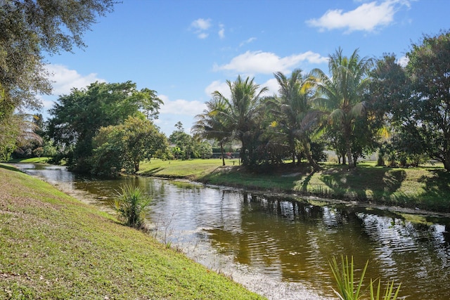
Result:
<instances>
[{"instance_id":1,"label":"blue sky with scattered white clouds above the treetops","mask_svg":"<svg viewBox=\"0 0 450 300\"><path fill-rule=\"evenodd\" d=\"M277 92L274 72L328 73L328 56L393 53L404 63L423 34L450 30L449 0L123 0L84 34L86 48L47 56L53 95L92 82L133 81L164 105L155 124L169 136L190 133L211 93L229 96L240 75Z\"/></svg>"}]
</instances>

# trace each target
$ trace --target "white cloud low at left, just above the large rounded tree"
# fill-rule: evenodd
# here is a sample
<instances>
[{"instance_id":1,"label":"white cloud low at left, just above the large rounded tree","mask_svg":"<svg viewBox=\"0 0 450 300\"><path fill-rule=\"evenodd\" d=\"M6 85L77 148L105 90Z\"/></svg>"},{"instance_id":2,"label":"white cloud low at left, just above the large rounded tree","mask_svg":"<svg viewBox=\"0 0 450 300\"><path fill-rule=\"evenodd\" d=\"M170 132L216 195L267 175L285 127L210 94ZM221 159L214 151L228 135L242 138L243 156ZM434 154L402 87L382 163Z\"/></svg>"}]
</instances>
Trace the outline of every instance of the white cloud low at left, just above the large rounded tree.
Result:
<instances>
[{"instance_id":1,"label":"white cloud low at left, just above the large rounded tree","mask_svg":"<svg viewBox=\"0 0 450 300\"><path fill-rule=\"evenodd\" d=\"M72 88L82 89L95 81L105 82L96 73L82 75L65 65L47 65L46 69L51 74L49 79L53 81L53 95L68 95Z\"/></svg>"}]
</instances>

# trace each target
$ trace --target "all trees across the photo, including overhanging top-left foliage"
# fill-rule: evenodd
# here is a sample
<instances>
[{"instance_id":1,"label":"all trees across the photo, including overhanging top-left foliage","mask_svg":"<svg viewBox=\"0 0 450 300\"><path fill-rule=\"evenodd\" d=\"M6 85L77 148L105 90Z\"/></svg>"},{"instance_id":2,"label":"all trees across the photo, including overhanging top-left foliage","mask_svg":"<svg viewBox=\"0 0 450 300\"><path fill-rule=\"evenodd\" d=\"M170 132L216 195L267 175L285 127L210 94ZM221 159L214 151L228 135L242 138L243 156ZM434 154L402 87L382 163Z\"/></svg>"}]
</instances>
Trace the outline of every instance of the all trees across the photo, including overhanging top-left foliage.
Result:
<instances>
[{"instance_id":1,"label":"all trees across the photo, including overhanging top-left foliage","mask_svg":"<svg viewBox=\"0 0 450 300\"><path fill-rule=\"evenodd\" d=\"M87 1L80 15L58 3L42 8L33 1L7 1L1 7L0 25L9 30L0 33L0 159L13 152L50 156L75 171L115 176L135 173L153 157L211 157L212 146L224 158L225 149L237 145L249 169L307 162L318 170L323 151L333 150L350 168L378 152L380 165L432 159L450 170L449 32L424 35L411 45L405 65L392 54L375 59L356 49L345 56L338 48L328 57L327 72L274 73L279 89L273 96L254 79L238 76L227 81L230 97L212 93L195 117L192 136L179 122L167 138L153 122L162 104L156 91L138 90L131 81L72 89L49 111L48 122L23 114L39 107L37 93L50 91L42 49L83 46L80 34L95 13L111 11L112 2Z\"/></svg>"}]
</instances>

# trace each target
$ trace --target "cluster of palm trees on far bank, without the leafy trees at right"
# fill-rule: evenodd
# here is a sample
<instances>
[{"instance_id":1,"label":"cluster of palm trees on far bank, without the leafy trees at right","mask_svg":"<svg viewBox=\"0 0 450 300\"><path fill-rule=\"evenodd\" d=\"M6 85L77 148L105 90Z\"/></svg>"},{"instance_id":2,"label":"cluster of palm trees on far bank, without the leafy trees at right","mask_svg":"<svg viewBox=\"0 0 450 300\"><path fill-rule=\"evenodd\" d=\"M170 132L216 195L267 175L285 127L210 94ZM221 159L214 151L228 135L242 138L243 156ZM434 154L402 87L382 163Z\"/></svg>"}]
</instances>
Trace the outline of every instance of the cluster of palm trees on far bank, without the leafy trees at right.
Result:
<instances>
[{"instance_id":1,"label":"cluster of palm trees on far bank, without the leafy trees at right","mask_svg":"<svg viewBox=\"0 0 450 300\"><path fill-rule=\"evenodd\" d=\"M222 157L225 143L239 141L240 159L247 167L279 164L288 158L298 164L304 157L317 170L319 138L334 129L343 145L343 152L335 148L336 152L342 154L342 162L345 154L354 167L352 136L359 118L366 117L367 103L362 99L373 60L361 58L357 49L352 56L343 56L339 48L328 61L329 76L319 69L309 74L297 69L290 77L276 72L279 90L274 96L263 96L267 88L254 79L238 76L227 81L231 96L212 93L207 109L196 116L194 135L218 141Z\"/></svg>"}]
</instances>

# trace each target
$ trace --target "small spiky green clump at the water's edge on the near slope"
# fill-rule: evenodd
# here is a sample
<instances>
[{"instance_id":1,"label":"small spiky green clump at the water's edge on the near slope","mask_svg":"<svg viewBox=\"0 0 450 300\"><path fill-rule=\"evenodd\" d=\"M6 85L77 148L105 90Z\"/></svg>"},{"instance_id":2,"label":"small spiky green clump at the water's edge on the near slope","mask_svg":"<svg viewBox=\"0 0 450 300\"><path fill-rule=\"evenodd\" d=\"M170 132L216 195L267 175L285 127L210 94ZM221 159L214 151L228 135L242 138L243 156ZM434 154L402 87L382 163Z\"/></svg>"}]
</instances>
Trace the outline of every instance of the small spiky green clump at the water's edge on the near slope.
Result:
<instances>
[{"instance_id":1,"label":"small spiky green clump at the water's edge on the near slope","mask_svg":"<svg viewBox=\"0 0 450 300\"><path fill-rule=\"evenodd\" d=\"M125 185L120 188L119 196L113 201L113 209L127 226L146 229L145 219L151 198L143 195L139 187Z\"/></svg>"}]
</instances>

